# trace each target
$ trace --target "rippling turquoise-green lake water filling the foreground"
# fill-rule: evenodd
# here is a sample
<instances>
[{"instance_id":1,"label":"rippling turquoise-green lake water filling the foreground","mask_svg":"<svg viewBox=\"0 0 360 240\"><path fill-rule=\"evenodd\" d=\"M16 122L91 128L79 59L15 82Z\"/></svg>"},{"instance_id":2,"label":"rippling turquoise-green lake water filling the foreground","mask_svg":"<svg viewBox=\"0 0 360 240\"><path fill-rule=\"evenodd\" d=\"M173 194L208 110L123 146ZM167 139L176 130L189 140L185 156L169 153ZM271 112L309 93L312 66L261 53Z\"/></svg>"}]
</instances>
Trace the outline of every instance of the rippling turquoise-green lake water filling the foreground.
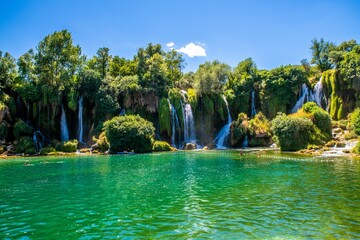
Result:
<instances>
[{"instance_id":1,"label":"rippling turquoise-green lake water filling the foreground","mask_svg":"<svg viewBox=\"0 0 360 240\"><path fill-rule=\"evenodd\" d=\"M360 238L356 160L177 152L1 160L0 174L1 239Z\"/></svg>"}]
</instances>

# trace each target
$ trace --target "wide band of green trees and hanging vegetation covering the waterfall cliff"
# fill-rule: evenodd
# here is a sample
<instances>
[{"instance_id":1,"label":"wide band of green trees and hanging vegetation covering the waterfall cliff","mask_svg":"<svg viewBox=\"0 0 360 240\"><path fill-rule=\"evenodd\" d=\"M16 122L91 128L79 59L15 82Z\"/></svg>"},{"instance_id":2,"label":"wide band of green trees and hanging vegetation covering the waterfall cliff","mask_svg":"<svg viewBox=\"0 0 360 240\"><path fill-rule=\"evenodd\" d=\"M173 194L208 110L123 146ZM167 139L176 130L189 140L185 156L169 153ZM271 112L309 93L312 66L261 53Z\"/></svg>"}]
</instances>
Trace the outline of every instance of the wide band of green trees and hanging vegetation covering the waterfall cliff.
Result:
<instances>
[{"instance_id":1,"label":"wide band of green trees and hanging vegetation covering the waterfall cliff","mask_svg":"<svg viewBox=\"0 0 360 240\"><path fill-rule=\"evenodd\" d=\"M231 116L237 117L232 124L231 146L240 146L245 136L249 146L269 145L272 129L277 128L274 123L282 123L279 119L284 120L283 127L300 122L301 126L292 133L305 131L304 143L299 147L308 141L306 132L310 132L308 144L322 145L331 136L331 120L343 120L360 106L360 45L355 40L336 45L314 39L310 50L311 59L303 59L299 65L261 70L251 58L240 61L234 68L214 60L201 64L194 72L183 73L182 55L176 50L165 51L159 44L140 47L130 59L111 55L107 47L100 47L89 57L81 54L70 32L56 31L18 59L0 51L0 140L5 145L20 142L21 138L32 137L35 129L47 142L59 140L62 106L68 120L76 119L81 98L84 139L88 146L96 142L100 151L108 150L106 139L113 142L112 149L135 150L135 146L126 143L125 136L123 146L115 139L110 141L105 133L100 135L104 123L120 112L151 122L156 128L156 139L169 141L172 126L168 101L179 119L180 127L176 129L180 133L179 142L184 140L184 106L189 103L197 140L210 146L228 120L225 96ZM322 107L327 107L331 119L314 104L289 118L283 115L280 118L279 112L290 113L302 84L313 87L320 77ZM252 116L252 92L260 115ZM269 120L274 118L278 120L272 121L270 128ZM311 121L311 129L304 118ZM359 134L356 124L352 120L355 133ZM68 121L68 127L70 136L75 138L78 122ZM278 141L282 139L277 135L279 131L274 134ZM154 136L147 141L153 139ZM21 143L26 145L25 140ZM74 145L69 143L65 149L72 151ZM288 145L286 149L296 148ZM144 146L137 151L151 150L148 143Z\"/></svg>"}]
</instances>

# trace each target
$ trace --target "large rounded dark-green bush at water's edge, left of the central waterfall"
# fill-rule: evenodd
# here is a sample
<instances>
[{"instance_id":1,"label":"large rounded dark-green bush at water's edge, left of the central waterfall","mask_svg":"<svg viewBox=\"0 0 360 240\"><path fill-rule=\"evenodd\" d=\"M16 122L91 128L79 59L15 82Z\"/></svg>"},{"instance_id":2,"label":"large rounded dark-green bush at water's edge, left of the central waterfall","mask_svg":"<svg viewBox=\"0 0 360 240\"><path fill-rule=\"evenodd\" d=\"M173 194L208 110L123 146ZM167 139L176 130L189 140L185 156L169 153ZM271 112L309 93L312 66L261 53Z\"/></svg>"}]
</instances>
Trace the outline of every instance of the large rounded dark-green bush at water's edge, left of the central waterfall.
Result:
<instances>
[{"instance_id":1,"label":"large rounded dark-green bush at water's edge, left of the central waterfall","mask_svg":"<svg viewBox=\"0 0 360 240\"><path fill-rule=\"evenodd\" d=\"M118 116L104 123L110 153L134 150L152 150L155 128L153 124L138 115Z\"/></svg>"}]
</instances>

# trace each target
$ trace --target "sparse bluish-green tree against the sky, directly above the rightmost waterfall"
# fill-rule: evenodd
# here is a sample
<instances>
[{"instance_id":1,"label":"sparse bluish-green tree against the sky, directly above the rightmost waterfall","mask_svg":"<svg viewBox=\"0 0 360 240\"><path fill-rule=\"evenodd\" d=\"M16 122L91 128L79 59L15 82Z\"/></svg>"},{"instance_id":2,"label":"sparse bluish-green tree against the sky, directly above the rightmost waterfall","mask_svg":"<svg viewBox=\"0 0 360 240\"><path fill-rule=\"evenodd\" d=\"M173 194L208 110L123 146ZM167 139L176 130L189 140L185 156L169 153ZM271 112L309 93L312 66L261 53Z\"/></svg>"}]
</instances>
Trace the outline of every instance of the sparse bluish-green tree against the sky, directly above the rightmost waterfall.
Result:
<instances>
[{"instance_id":1,"label":"sparse bluish-green tree against the sky, directly above the rightmost waterfall","mask_svg":"<svg viewBox=\"0 0 360 240\"><path fill-rule=\"evenodd\" d=\"M320 72L331 69L333 67L333 64L330 62L329 54L335 48L335 45L333 43L324 41L323 38L321 38L320 41L315 38L311 41L311 43L311 63L316 64Z\"/></svg>"}]
</instances>

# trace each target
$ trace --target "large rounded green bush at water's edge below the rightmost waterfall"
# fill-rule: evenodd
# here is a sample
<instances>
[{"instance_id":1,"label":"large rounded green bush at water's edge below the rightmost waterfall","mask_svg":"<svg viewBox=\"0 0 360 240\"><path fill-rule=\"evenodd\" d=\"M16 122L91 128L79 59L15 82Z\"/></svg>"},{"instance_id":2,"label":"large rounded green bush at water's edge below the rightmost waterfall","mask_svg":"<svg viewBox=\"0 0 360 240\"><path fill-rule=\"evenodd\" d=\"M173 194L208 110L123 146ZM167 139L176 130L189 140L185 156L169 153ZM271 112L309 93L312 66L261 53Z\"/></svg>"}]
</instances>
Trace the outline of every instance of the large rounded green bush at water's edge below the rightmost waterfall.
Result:
<instances>
[{"instance_id":1,"label":"large rounded green bush at water's edge below the rightmost waterfall","mask_svg":"<svg viewBox=\"0 0 360 240\"><path fill-rule=\"evenodd\" d=\"M271 122L274 139L281 151L298 151L311 142L314 125L306 118L294 118L281 113Z\"/></svg>"}]
</instances>

